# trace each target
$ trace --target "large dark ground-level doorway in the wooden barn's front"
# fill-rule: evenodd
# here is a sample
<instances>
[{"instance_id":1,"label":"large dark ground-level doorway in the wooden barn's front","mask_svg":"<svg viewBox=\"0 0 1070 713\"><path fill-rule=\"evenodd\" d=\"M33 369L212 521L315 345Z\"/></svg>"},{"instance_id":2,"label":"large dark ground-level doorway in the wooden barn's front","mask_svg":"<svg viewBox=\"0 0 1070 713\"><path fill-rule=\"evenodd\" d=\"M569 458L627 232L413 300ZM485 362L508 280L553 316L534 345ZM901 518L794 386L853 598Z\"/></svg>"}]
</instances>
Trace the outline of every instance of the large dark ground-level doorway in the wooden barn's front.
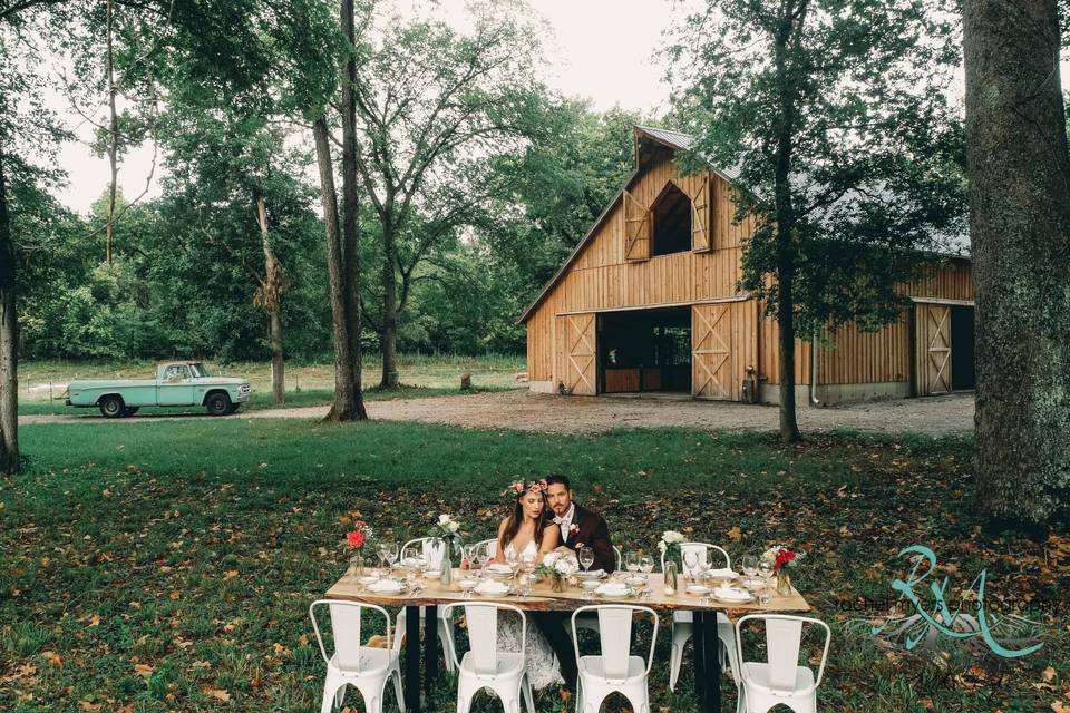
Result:
<instances>
[{"instance_id":1,"label":"large dark ground-level doorway in the wooden barn's front","mask_svg":"<svg viewBox=\"0 0 1070 713\"><path fill-rule=\"evenodd\" d=\"M601 393L691 392L691 307L600 315Z\"/></svg>"}]
</instances>

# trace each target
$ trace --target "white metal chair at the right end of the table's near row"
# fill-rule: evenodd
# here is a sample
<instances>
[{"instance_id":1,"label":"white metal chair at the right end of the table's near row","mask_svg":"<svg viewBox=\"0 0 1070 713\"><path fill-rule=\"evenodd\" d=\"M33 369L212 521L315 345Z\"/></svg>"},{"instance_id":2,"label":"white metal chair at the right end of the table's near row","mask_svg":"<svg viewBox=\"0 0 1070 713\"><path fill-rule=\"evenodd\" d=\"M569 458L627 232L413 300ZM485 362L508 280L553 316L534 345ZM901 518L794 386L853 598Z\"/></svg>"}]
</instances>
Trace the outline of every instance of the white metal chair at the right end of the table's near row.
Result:
<instances>
[{"instance_id":1,"label":"white metal chair at the right end of the table's near row","mask_svg":"<svg viewBox=\"0 0 1070 713\"><path fill-rule=\"evenodd\" d=\"M768 662L746 661L742 656L740 632L750 621L762 621L766 625L766 648ZM817 677L807 666L799 665L799 648L802 642L802 625L811 624L825 629L825 647L821 651L821 665ZM825 674L825 661L828 658L828 645L833 633L828 624L820 619L787 614L748 614L736 622L736 648L739 653L739 677L742 682L739 711L746 713L766 713L775 705L782 704L795 713L817 712L817 687Z\"/></svg>"}]
</instances>

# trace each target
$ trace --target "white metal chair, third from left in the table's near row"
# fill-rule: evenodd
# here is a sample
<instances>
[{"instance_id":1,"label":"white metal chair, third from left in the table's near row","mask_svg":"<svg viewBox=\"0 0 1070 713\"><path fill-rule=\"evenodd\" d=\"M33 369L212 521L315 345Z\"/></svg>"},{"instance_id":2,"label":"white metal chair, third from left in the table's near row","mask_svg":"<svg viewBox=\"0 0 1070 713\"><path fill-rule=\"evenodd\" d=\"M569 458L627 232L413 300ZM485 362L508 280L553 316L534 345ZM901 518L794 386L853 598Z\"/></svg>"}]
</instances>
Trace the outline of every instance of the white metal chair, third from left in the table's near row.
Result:
<instances>
[{"instance_id":1,"label":"white metal chair, third from left in the table's near row","mask_svg":"<svg viewBox=\"0 0 1070 713\"><path fill-rule=\"evenodd\" d=\"M577 617L594 612L599 617L601 653L581 656ZM650 615L653 629L650 634L650 653L646 661L632 655L632 617L636 612ZM654 645L658 643L658 614L645 606L611 604L580 607L572 614L572 642L576 652L580 680L576 684L576 713L597 713L602 702L611 693L620 693L632 704L635 713L650 713L650 692L646 678L654 662Z\"/></svg>"}]
</instances>

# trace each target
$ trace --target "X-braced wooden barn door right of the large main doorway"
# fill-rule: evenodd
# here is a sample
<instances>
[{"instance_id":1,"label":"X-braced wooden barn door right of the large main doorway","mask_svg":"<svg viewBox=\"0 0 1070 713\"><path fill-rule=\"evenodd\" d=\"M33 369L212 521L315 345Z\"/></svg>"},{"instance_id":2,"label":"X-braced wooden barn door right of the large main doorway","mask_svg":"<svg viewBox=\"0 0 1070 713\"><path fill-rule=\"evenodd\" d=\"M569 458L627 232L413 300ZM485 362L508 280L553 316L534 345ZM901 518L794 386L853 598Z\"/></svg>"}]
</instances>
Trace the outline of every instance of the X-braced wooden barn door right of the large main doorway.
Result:
<instances>
[{"instance_id":1,"label":"X-braced wooden barn door right of the large main doorway","mask_svg":"<svg viewBox=\"0 0 1070 713\"><path fill-rule=\"evenodd\" d=\"M732 398L732 305L691 307L691 393L704 399Z\"/></svg>"}]
</instances>

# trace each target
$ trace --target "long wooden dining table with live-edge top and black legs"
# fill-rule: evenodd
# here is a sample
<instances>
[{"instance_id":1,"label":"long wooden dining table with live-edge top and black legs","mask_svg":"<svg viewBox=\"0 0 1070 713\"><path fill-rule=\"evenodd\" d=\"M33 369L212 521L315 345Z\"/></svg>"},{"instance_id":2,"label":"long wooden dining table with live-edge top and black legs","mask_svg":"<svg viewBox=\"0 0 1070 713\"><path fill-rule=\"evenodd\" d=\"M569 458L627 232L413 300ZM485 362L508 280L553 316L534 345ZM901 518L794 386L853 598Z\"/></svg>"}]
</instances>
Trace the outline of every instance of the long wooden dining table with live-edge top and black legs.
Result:
<instances>
[{"instance_id":1,"label":"long wooden dining table with live-edge top and black legs","mask_svg":"<svg viewBox=\"0 0 1070 713\"><path fill-rule=\"evenodd\" d=\"M780 596L772 592L772 597L766 606L757 602L749 604L726 604L710 599L709 605L702 605L700 598L689 594L678 593L665 595L661 586L662 575L650 575L651 593L648 597L603 598L592 597L578 587L566 587L564 592L553 592L548 582L533 585L531 596L504 595L492 597L473 595L470 598L460 590L457 580L470 573L454 572L451 585L442 586L437 579L421 580L424 588L416 593L402 592L395 595L382 595L362 587L356 575L347 573L327 590L329 599L347 599L364 602L379 606L405 607L405 625L409 633L405 644L405 706L408 713L420 713L421 687L429 693L438 677L438 605L456 602L505 602L521 609L529 612L573 612L581 606L591 604L638 604L649 606L655 612L688 611L694 617L694 686L699 697L699 707L703 713L719 713L721 707L721 672L717 655L717 613L724 612L731 619L736 616L765 613L809 612L810 606L796 589L790 596ZM681 588L683 577L680 577ZM422 608L424 623L424 665L420 665L420 637L411 635L420 631L420 611ZM422 686L421 670L422 668ZM429 696L428 696L429 700Z\"/></svg>"}]
</instances>

